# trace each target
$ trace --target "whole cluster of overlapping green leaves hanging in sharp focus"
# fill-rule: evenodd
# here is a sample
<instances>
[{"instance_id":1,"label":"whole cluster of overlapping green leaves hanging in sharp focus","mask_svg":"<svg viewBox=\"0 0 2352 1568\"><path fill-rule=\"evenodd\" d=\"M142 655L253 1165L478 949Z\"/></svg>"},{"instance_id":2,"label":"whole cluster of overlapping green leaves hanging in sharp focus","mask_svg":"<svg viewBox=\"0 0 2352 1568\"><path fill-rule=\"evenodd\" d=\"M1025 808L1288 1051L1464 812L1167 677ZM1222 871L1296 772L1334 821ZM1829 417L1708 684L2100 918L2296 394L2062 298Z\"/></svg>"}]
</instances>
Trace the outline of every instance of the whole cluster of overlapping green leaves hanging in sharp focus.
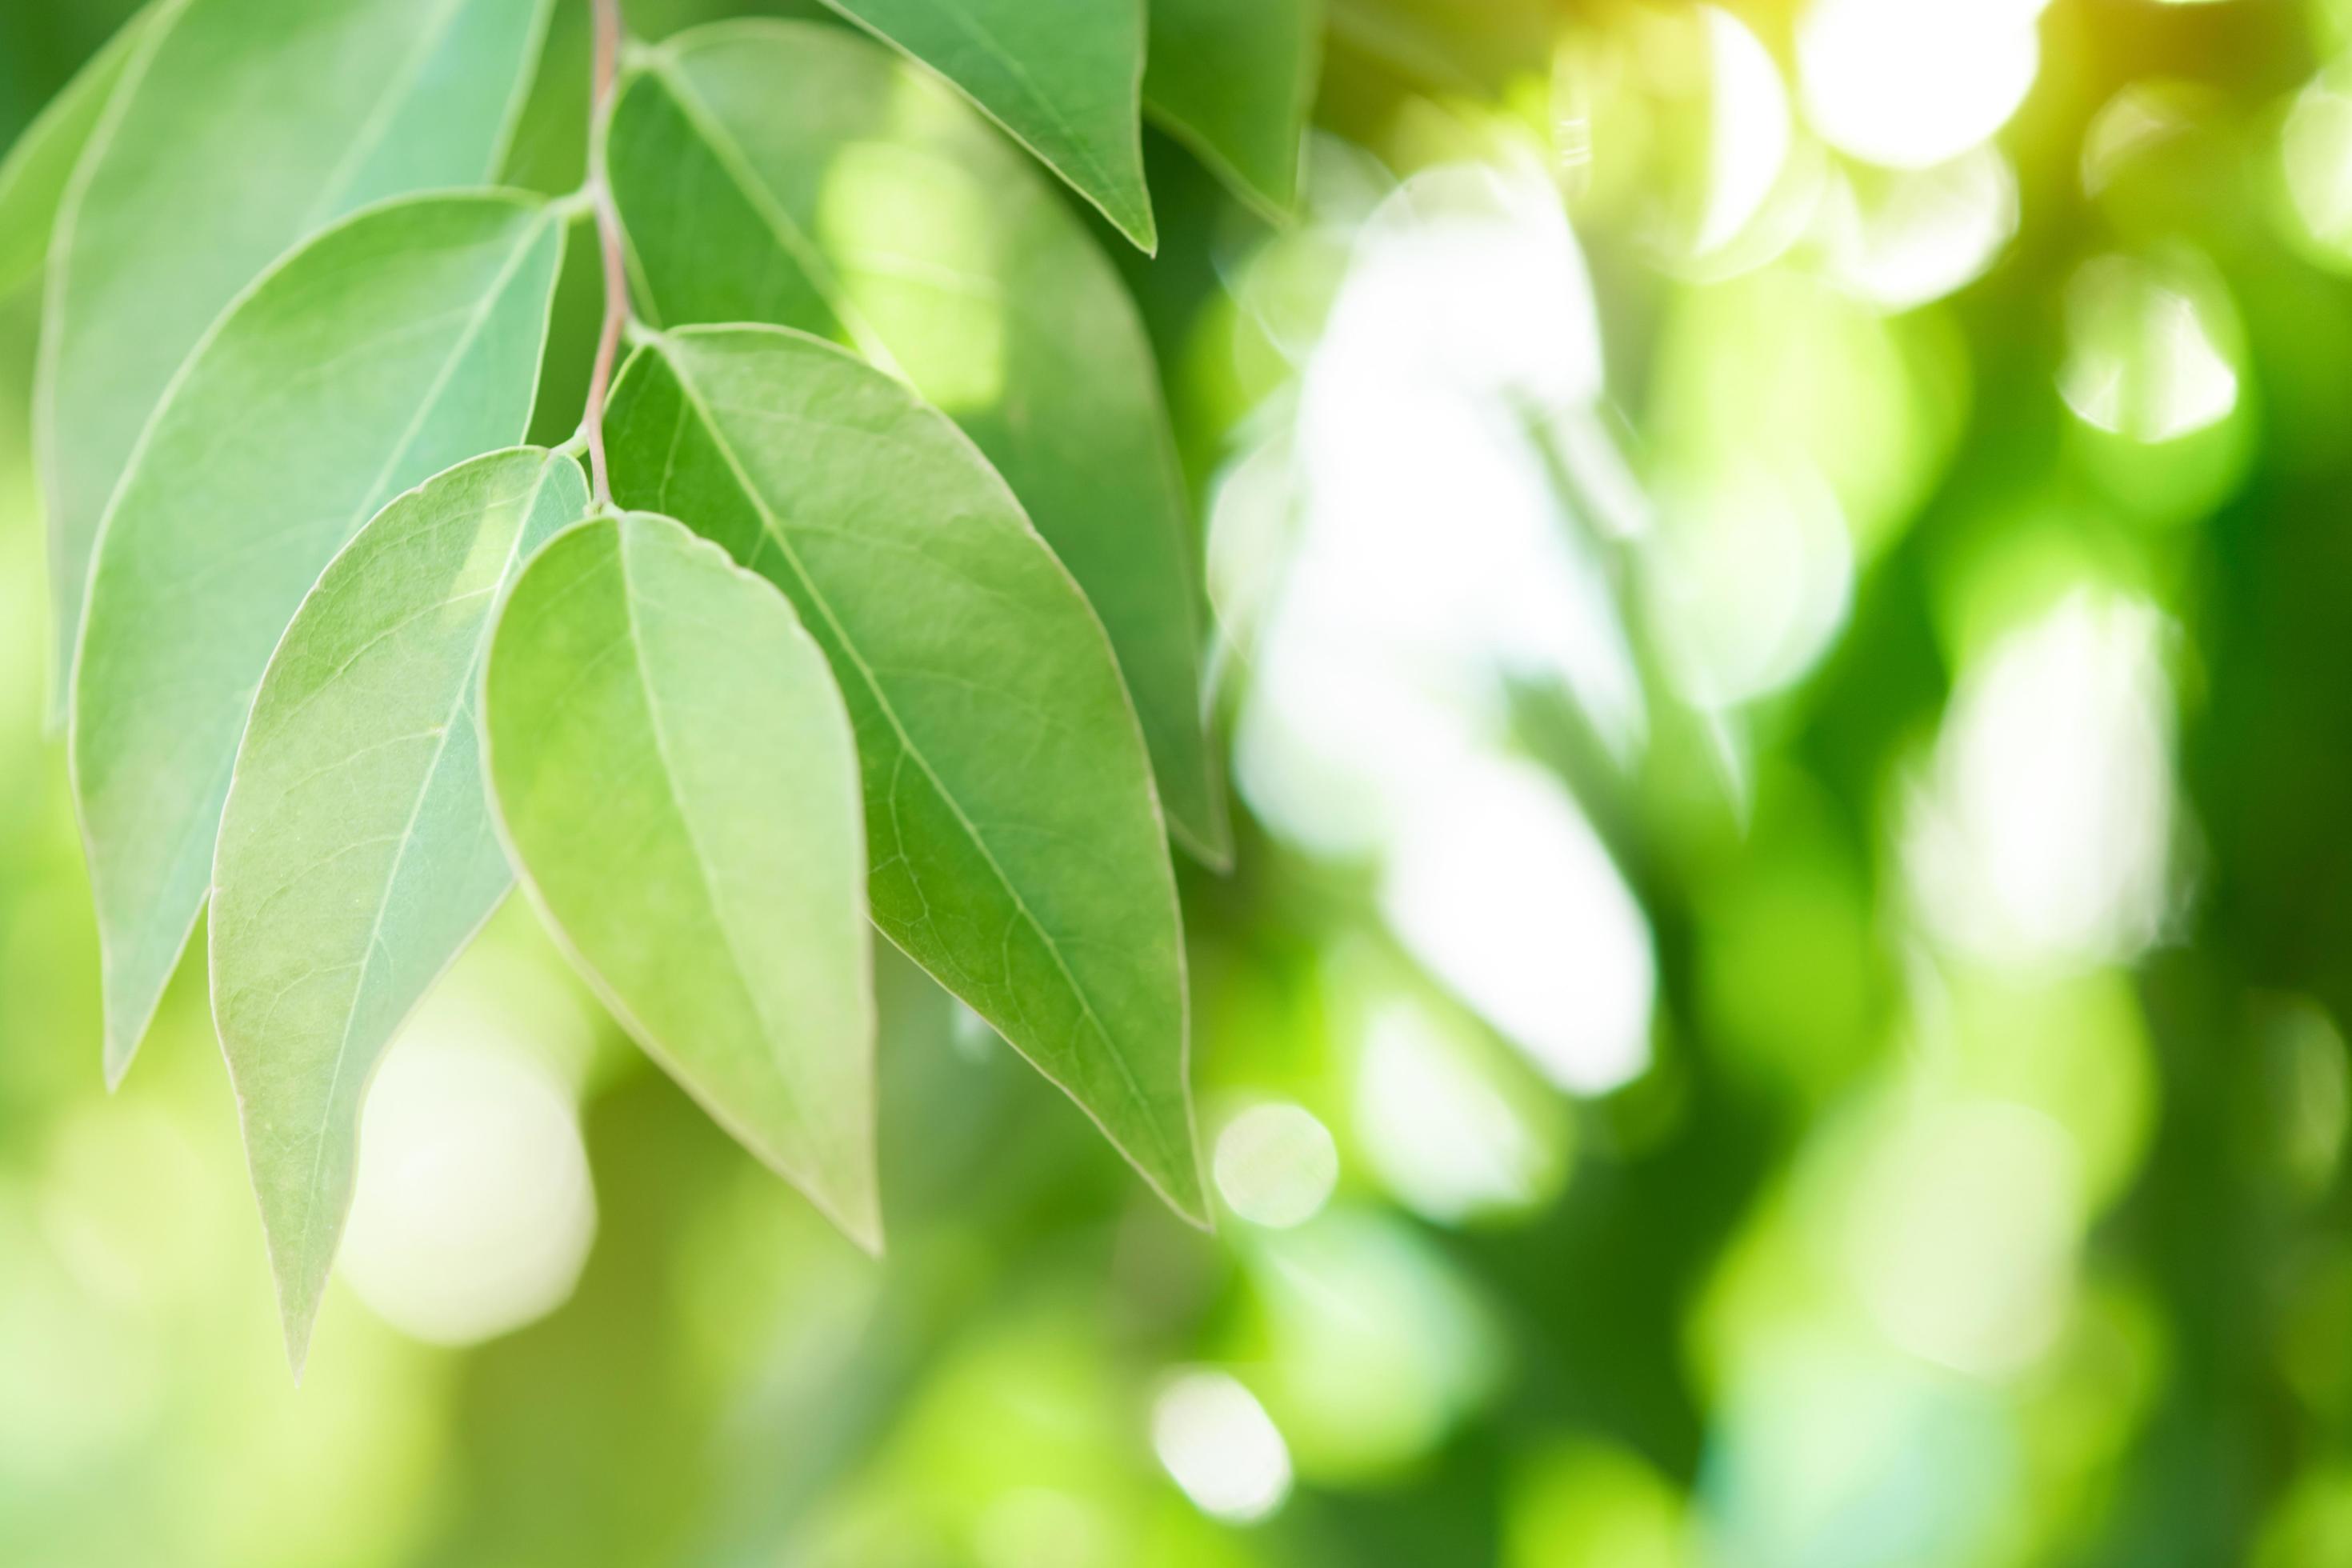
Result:
<instances>
[{"instance_id":1,"label":"whole cluster of overlapping green leaves hanging in sharp focus","mask_svg":"<svg viewBox=\"0 0 2352 1568\"><path fill-rule=\"evenodd\" d=\"M499 183L550 9L155 0L0 167L106 1072L209 907L296 1368L369 1077L517 882L875 1251L873 929L1207 1220L1169 839L1230 835L1190 508L1051 176L1150 249L1148 110L1279 214L1315 7L630 42L553 200ZM527 447L597 216L630 353Z\"/></svg>"}]
</instances>

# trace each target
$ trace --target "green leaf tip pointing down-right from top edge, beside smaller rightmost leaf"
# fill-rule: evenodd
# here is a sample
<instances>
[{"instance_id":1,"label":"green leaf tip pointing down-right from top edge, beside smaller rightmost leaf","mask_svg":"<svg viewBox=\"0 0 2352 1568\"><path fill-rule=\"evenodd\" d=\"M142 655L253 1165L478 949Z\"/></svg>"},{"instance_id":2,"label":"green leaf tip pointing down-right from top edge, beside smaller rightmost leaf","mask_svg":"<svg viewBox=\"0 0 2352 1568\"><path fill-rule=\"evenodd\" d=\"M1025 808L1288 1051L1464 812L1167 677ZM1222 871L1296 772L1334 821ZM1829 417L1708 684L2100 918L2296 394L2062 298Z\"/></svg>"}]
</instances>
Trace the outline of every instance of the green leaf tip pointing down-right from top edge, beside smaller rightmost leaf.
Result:
<instances>
[{"instance_id":1,"label":"green leaf tip pointing down-right from top edge, beside smaller rightmost leaf","mask_svg":"<svg viewBox=\"0 0 2352 1568\"><path fill-rule=\"evenodd\" d=\"M922 61L1143 252L1143 0L826 0Z\"/></svg>"}]
</instances>

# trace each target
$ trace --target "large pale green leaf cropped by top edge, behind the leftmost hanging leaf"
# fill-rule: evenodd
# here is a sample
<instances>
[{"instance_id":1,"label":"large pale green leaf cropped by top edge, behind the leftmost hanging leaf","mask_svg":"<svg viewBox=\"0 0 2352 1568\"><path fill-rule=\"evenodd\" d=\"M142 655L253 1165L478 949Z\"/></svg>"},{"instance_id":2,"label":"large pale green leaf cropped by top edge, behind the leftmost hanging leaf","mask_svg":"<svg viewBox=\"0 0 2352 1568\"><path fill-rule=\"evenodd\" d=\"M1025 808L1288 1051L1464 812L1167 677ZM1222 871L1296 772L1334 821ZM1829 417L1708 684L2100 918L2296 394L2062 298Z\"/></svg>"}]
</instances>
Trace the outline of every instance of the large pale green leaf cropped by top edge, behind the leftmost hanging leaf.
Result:
<instances>
[{"instance_id":1,"label":"large pale green leaf cropped by top edge, behind the leftmost hanging leaf","mask_svg":"<svg viewBox=\"0 0 2352 1568\"><path fill-rule=\"evenodd\" d=\"M390 195L480 186L548 0L162 0L66 188L33 393L61 712L89 557L181 360L261 268Z\"/></svg>"}]
</instances>

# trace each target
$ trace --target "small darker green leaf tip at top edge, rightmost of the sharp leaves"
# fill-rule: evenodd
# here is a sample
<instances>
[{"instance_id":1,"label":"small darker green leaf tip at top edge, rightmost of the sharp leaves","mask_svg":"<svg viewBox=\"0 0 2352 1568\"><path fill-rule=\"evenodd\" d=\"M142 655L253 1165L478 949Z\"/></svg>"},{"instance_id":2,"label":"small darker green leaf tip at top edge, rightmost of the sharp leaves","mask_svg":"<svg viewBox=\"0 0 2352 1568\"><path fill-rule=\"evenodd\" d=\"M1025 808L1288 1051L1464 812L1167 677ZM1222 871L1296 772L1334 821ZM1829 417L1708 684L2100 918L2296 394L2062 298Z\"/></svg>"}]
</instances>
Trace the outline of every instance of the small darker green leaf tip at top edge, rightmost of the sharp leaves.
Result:
<instances>
[{"instance_id":1,"label":"small darker green leaf tip at top edge, rightmost of the sharp leaves","mask_svg":"<svg viewBox=\"0 0 2352 1568\"><path fill-rule=\"evenodd\" d=\"M1152 0L1143 101L1270 219L1298 200L1322 0Z\"/></svg>"}]
</instances>

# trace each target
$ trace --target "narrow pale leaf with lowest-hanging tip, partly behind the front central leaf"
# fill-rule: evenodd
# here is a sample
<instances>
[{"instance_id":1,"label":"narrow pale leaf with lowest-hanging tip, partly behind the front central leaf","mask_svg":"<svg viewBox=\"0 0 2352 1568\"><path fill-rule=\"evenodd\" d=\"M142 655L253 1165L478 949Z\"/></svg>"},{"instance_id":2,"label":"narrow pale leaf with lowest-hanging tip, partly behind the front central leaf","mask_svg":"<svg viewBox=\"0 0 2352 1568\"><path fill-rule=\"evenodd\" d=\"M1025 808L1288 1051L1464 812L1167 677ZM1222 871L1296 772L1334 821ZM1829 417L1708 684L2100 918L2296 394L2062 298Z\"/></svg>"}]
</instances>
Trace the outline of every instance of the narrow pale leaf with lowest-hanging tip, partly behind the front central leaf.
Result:
<instances>
[{"instance_id":1,"label":"narrow pale leaf with lowest-hanging tip, partly behind the front central leaf","mask_svg":"<svg viewBox=\"0 0 2352 1568\"><path fill-rule=\"evenodd\" d=\"M212 875L212 1018L301 1373L376 1060L513 877L475 691L499 590L588 510L579 463L499 451L360 529L287 628Z\"/></svg>"}]
</instances>

